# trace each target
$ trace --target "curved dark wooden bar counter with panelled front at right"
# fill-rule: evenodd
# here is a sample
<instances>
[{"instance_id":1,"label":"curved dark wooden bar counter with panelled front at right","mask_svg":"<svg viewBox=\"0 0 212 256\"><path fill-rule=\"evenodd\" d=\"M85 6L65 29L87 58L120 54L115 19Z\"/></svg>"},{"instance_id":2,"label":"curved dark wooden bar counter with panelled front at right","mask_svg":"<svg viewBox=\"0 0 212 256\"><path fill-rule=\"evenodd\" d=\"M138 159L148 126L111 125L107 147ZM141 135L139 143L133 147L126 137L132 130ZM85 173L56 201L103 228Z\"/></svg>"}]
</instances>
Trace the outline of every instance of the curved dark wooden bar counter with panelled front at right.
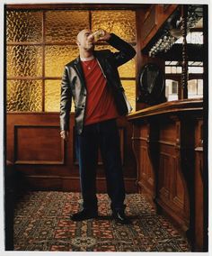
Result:
<instances>
[{"instance_id":1,"label":"curved dark wooden bar counter with panelled front at right","mask_svg":"<svg viewBox=\"0 0 212 256\"><path fill-rule=\"evenodd\" d=\"M203 101L166 102L128 115L137 159L137 186L204 250ZM207 197L206 197L207 200Z\"/></svg>"}]
</instances>

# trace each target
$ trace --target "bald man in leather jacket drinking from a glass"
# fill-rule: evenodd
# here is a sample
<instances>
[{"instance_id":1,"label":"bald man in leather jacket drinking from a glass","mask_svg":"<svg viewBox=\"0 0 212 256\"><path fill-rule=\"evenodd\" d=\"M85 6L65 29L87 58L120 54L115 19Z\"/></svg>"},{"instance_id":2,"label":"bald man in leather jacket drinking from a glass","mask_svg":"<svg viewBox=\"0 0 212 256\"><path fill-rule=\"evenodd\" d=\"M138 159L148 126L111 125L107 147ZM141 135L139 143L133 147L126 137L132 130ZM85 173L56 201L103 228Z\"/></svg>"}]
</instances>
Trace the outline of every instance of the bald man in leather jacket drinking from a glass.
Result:
<instances>
[{"instance_id":1,"label":"bald man in leather jacket drinking from a glass","mask_svg":"<svg viewBox=\"0 0 212 256\"><path fill-rule=\"evenodd\" d=\"M71 215L73 221L98 217L96 165L98 148L102 153L112 217L128 224L125 215L125 187L120 159L119 132L116 118L127 114L119 105L118 67L132 59L136 51L113 33L105 32L107 41L119 50L94 50L94 37L84 29L77 35L79 57L66 64L61 86L60 129L67 140L72 98L75 103L76 154L79 160L83 210Z\"/></svg>"}]
</instances>

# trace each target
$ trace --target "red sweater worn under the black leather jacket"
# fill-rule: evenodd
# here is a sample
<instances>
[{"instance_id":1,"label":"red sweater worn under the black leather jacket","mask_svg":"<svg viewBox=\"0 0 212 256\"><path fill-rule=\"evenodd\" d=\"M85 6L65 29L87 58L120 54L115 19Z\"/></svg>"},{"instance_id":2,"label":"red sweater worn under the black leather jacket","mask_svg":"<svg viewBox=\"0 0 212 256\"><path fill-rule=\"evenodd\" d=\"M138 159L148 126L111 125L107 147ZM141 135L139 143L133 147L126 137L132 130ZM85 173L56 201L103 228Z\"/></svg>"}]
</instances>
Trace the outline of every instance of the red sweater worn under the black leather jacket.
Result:
<instances>
[{"instance_id":1,"label":"red sweater worn under the black leather jacket","mask_svg":"<svg viewBox=\"0 0 212 256\"><path fill-rule=\"evenodd\" d=\"M96 59L81 61L87 88L84 125L119 116L110 87Z\"/></svg>"}]
</instances>

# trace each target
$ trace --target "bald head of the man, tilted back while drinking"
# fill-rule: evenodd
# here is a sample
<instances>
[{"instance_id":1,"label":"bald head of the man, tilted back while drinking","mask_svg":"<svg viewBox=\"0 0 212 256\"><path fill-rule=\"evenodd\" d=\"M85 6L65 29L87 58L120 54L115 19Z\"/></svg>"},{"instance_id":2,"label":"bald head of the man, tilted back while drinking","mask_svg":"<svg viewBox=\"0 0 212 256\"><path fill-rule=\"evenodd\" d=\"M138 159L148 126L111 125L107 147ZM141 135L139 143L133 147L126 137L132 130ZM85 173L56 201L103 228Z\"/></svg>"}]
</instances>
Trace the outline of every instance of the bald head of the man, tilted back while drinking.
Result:
<instances>
[{"instance_id":1,"label":"bald head of the man, tilted back while drinking","mask_svg":"<svg viewBox=\"0 0 212 256\"><path fill-rule=\"evenodd\" d=\"M83 50L94 50L93 38L89 38L89 35L92 34L92 31L89 29L84 29L79 32L77 35L77 45Z\"/></svg>"}]
</instances>

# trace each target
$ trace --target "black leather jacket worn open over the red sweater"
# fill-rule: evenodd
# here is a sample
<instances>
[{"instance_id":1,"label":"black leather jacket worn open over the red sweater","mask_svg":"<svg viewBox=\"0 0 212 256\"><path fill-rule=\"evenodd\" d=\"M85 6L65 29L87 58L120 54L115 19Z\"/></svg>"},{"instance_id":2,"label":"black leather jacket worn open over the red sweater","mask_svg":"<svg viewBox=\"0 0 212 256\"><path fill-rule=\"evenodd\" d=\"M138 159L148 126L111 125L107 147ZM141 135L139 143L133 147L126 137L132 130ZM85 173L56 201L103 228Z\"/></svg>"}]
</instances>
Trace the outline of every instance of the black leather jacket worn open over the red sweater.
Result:
<instances>
[{"instance_id":1,"label":"black leather jacket worn open over the red sweater","mask_svg":"<svg viewBox=\"0 0 212 256\"><path fill-rule=\"evenodd\" d=\"M108 43L118 52L112 53L110 50L94 50L93 55L97 59L103 76L107 80L107 86L113 91L122 89L119 78L118 67L132 59L136 55L136 50L123 41L117 35L111 33ZM86 106L87 90L84 82L84 73L81 67L79 56L66 64L61 85L60 101L60 130L69 130L69 116L72 99L75 104L75 131L78 134L83 132L84 113ZM116 102L116 101L115 101ZM123 115L121 110L119 114Z\"/></svg>"}]
</instances>

